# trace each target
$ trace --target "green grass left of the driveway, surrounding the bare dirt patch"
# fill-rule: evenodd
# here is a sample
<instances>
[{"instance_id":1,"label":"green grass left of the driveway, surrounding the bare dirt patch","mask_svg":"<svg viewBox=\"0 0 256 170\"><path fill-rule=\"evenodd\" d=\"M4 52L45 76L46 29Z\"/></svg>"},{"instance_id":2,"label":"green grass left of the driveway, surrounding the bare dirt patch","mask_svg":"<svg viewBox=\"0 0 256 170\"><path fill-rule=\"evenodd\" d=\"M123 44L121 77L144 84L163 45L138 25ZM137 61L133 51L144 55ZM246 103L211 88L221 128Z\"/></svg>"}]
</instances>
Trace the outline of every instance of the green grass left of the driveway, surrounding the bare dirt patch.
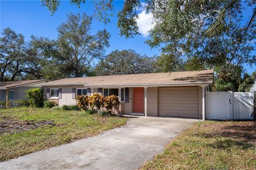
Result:
<instances>
[{"instance_id":1,"label":"green grass left of the driveway, surrounding the bare dirt patch","mask_svg":"<svg viewBox=\"0 0 256 170\"><path fill-rule=\"evenodd\" d=\"M124 117L103 117L82 111L53 111L45 108L13 108L0 110L0 123L12 121L53 121L34 130L0 135L1 162L53 146L97 135L126 123Z\"/></svg>"}]
</instances>

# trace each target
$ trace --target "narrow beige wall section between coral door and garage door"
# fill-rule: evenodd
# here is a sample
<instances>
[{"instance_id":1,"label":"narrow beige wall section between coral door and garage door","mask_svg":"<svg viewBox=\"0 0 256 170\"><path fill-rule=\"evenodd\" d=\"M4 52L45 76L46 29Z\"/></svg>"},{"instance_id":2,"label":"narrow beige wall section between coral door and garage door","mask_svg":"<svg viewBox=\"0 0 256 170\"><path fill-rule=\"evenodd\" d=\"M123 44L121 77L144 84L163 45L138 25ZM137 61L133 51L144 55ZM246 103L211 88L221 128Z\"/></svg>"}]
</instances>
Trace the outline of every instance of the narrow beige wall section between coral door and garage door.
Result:
<instances>
[{"instance_id":1,"label":"narrow beige wall section between coral door and garage door","mask_svg":"<svg viewBox=\"0 0 256 170\"><path fill-rule=\"evenodd\" d=\"M157 99L158 99L158 88L148 87L147 88L147 116L157 116Z\"/></svg>"}]
</instances>

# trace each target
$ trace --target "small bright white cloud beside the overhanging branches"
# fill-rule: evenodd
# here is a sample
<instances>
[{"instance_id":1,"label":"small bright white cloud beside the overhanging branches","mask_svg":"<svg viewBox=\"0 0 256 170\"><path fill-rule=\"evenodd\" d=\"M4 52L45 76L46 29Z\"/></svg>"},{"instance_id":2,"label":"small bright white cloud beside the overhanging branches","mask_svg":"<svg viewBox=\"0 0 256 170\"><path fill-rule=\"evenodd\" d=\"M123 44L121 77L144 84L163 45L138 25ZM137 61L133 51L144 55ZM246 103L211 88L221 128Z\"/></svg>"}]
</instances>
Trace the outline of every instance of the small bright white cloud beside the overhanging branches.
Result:
<instances>
[{"instance_id":1,"label":"small bright white cloud beside the overhanging branches","mask_svg":"<svg viewBox=\"0 0 256 170\"><path fill-rule=\"evenodd\" d=\"M139 27L139 32L143 37L147 37L152 28L154 28L153 15L152 13L146 13L146 10L141 11L139 14L139 18L137 19L137 24Z\"/></svg>"}]
</instances>

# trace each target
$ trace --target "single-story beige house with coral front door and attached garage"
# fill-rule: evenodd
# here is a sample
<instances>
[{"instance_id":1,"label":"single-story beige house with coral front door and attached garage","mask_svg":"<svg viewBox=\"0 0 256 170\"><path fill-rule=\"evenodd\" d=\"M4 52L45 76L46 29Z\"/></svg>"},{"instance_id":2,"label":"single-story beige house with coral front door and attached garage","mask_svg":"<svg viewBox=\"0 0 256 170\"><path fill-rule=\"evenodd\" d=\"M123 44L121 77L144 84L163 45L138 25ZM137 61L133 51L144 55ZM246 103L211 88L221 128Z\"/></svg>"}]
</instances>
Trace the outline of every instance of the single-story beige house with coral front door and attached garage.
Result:
<instances>
[{"instance_id":1,"label":"single-story beige house with coral front door and attached garage","mask_svg":"<svg viewBox=\"0 0 256 170\"><path fill-rule=\"evenodd\" d=\"M189 117L204 120L205 90L213 70L69 78L38 84L49 100L75 105L77 95L117 95L126 115Z\"/></svg>"}]
</instances>

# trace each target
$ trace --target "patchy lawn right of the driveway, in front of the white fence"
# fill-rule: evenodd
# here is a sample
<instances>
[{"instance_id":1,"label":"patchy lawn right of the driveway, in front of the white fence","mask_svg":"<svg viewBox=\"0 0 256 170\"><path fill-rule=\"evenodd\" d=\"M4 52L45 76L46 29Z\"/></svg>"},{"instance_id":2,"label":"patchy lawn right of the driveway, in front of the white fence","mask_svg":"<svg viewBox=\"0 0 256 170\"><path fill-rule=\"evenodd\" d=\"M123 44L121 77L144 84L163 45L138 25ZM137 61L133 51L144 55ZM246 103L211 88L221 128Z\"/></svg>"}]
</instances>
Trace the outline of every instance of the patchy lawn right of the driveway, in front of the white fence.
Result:
<instances>
[{"instance_id":1,"label":"patchy lawn right of the driveway, in front of the white fence","mask_svg":"<svg viewBox=\"0 0 256 170\"><path fill-rule=\"evenodd\" d=\"M256 122L195 123L141 169L256 169Z\"/></svg>"}]
</instances>

